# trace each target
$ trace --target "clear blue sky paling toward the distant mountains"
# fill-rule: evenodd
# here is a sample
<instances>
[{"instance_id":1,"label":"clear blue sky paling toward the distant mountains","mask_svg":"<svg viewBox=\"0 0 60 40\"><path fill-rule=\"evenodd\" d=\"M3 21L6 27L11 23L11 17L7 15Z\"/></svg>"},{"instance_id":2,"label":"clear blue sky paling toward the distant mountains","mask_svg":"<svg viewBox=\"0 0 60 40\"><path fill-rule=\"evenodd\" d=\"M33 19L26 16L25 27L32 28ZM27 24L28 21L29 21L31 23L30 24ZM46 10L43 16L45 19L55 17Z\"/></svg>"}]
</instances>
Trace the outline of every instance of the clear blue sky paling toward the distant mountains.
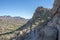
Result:
<instances>
[{"instance_id":1,"label":"clear blue sky paling toward the distant mountains","mask_svg":"<svg viewBox=\"0 0 60 40\"><path fill-rule=\"evenodd\" d=\"M20 16L30 19L38 6L52 8L54 0L0 0L0 16Z\"/></svg>"}]
</instances>

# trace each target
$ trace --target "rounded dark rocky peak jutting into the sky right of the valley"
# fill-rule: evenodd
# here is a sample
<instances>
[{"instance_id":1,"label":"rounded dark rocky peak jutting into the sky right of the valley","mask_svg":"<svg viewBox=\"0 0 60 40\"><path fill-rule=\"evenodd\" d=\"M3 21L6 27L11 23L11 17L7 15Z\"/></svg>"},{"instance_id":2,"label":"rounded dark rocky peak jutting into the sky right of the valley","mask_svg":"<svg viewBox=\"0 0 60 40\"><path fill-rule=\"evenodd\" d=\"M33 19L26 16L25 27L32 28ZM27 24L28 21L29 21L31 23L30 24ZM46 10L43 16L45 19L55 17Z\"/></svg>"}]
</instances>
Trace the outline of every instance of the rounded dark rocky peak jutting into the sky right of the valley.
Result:
<instances>
[{"instance_id":1,"label":"rounded dark rocky peak jutting into the sky right of the valley","mask_svg":"<svg viewBox=\"0 0 60 40\"><path fill-rule=\"evenodd\" d=\"M33 19L39 19L39 18L42 19L42 18L44 18L44 16L50 17L51 11L48 10L47 8L37 7L32 18Z\"/></svg>"}]
</instances>

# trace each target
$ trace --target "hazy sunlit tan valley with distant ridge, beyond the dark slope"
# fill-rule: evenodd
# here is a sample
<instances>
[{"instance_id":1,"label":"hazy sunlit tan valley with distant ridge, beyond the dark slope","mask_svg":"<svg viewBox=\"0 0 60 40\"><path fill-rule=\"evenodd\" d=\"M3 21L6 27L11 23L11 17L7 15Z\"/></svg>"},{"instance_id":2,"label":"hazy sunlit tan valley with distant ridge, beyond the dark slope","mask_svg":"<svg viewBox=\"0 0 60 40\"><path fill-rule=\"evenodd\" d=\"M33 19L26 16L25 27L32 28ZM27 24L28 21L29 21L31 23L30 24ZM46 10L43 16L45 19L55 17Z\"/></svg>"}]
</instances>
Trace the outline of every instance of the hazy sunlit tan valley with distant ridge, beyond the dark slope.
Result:
<instances>
[{"instance_id":1,"label":"hazy sunlit tan valley with distant ridge, beyond the dark slope","mask_svg":"<svg viewBox=\"0 0 60 40\"><path fill-rule=\"evenodd\" d=\"M0 34L18 29L27 22L21 17L0 16Z\"/></svg>"}]
</instances>

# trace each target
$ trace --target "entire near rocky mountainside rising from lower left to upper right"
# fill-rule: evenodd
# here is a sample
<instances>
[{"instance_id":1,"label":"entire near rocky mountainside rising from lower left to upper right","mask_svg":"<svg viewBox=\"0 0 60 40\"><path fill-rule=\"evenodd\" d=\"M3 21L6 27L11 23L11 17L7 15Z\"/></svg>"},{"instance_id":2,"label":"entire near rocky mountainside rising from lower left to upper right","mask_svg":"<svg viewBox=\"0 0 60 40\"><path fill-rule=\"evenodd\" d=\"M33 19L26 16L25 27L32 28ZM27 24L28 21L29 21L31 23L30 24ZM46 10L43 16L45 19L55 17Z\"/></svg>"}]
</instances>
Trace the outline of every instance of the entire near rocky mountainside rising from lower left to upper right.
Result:
<instances>
[{"instance_id":1,"label":"entire near rocky mountainside rising from lower left to upper right","mask_svg":"<svg viewBox=\"0 0 60 40\"><path fill-rule=\"evenodd\" d=\"M60 40L60 1L54 1L52 11L38 7L25 25L0 36L1 40Z\"/></svg>"}]
</instances>

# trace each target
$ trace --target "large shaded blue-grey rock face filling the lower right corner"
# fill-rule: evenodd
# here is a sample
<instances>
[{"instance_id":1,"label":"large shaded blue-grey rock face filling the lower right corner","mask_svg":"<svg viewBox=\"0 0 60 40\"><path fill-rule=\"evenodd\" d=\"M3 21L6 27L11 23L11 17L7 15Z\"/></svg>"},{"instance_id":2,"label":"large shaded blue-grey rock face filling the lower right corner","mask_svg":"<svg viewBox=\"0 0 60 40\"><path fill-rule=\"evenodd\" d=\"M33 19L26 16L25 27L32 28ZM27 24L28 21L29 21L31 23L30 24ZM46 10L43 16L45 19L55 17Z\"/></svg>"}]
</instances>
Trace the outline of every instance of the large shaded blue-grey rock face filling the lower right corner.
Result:
<instances>
[{"instance_id":1,"label":"large shaded blue-grey rock face filling the lower right corner","mask_svg":"<svg viewBox=\"0 0 60 40\"><path fill-rule=\"evenodd\" d=\"M34 34L34 35L33 35ZM60 40L60 16L56 15L45 26L38 26L32 32L31 40Z\"/></svg>"}]
</instances>

